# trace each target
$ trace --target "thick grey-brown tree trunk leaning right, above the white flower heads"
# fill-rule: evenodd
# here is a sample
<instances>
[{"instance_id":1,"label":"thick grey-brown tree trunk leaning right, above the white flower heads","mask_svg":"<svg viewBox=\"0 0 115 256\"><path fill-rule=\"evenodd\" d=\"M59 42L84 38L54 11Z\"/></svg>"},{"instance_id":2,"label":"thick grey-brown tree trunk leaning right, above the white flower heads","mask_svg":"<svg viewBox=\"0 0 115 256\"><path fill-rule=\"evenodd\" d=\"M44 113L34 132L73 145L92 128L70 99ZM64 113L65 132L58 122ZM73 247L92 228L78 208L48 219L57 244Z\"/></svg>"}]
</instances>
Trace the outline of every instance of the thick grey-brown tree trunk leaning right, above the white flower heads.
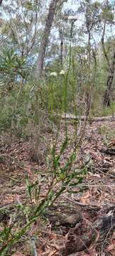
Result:
<instances>
[{"instance_id":1,"label":"thick grey-brown tree trunk leaning right, above the white flower heads","mask_svg":"<svg viewBox=\"0 0 115 256\"><path fill-rule=\"evenodd\" d=\"M38 63L36 67L36 72L35 72L35 77L37 79L40 79L42 72L43 72L43 63L44 63L44 58L45 58L45 50L48 45L48 38L50 36L50 30L51 26L53 24L53 18L55 15L55 10L57 7L57 2L59 0L51 0L50 1L50 6L49 6L49 11L48 11L48 17L46 18L45 21L45 28L43 31L43 36L40 41L40 50L39 50L39 55L38 55Z\"/></svg>"}]
</instances>

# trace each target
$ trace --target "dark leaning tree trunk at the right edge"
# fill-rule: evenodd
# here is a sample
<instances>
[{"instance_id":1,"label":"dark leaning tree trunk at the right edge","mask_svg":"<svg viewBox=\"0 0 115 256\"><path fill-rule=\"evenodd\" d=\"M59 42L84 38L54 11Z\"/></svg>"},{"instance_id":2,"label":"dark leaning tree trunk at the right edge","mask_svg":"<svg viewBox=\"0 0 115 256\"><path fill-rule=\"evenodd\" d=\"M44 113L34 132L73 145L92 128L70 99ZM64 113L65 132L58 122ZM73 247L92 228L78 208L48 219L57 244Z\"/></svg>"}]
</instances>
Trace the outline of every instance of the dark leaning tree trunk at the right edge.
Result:
<instances>
[{"instance_id":1,"label":"dark leaning tree trunk at the right edge","mask_svg":"<svg viewBox=\"0 0 115 256\"><path fill-rule=\"evenodd\" d=\"M110 106L110 95L111 95L111 89L112 89L112 84L114 80L114 68L115 68L114 65L115 65L115 52L114 52L112 63L109 68L109 75L106 83L106 91L104 93L104 107Z\"/></svg>"}]
</instances>

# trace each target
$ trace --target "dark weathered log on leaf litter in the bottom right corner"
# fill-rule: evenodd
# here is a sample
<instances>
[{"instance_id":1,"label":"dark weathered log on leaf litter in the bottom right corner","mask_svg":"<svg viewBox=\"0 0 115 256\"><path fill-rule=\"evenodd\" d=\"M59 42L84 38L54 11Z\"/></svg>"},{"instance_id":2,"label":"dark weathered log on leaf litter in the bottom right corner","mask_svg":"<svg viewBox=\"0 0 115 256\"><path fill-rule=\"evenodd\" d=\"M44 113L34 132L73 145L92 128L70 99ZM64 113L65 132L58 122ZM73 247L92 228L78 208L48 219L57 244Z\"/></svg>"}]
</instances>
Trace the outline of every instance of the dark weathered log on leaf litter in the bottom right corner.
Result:
<instances>
[{"instance_id":1,"label":"dark weathered log on leaf litter in the bottom right corner","mask_svg":"<svg viewBox=\"0 0 115 256\"><path fill-rule=\"evenodd\" d=\"M109 213L97 217L94 223L89 223L84 220L78 223L75 228L71 228L67 233L67 239L63 248L62 255L64 256L77 256L77 252L87 250L93 241L98 245L104 246L106 238L110 237L114 232L115 225L115 206L109 208ZM107 211L107 209L105 209ZM78 254L79 255L79 254Z\"/></svg>"}]
</instances>

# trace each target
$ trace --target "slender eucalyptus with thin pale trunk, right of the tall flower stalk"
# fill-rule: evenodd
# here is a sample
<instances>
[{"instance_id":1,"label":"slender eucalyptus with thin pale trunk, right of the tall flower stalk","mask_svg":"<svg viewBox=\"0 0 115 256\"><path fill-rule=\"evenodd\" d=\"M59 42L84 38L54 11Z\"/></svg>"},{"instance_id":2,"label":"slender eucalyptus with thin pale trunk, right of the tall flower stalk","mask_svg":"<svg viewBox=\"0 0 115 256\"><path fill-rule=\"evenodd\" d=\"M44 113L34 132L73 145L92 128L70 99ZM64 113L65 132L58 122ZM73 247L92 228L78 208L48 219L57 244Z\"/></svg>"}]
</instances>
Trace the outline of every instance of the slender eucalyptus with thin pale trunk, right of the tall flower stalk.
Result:
<instances>
[{"instance_id":1,"label":"slender eucalyptus with thin pale trunk, right of the tall flower stalk","mask_svg":"<svg viewBox=\"0 0 115 256\"><path fill-rule=\"evenodd\" d=\"M84 0L80 1L79 13L82 15L82 24L80 26L80 36L85 50L85 79L84 92L91 107L91 97L94 90L95 74L97 68L95 35L99 33L100 24L99 1ZM87 101L86 100L86 101Z\"/></svg>"}]
</instances>

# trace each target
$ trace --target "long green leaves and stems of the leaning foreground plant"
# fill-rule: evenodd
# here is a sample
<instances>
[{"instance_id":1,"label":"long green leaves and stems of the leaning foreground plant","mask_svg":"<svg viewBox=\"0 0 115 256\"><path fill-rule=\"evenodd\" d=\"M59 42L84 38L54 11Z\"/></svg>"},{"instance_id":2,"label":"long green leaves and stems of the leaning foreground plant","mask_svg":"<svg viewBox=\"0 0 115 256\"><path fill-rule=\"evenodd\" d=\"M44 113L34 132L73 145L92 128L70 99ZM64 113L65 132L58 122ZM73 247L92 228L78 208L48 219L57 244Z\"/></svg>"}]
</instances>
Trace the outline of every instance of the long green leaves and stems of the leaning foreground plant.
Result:
<instances>
[{"instance_id":1,"label":"long green leaves and stems of the leaning foreground plant","mask_svg":"<svg viewBox=\"0 0 115 256\"><path fill-rule=\"evenodd\" d=\"M81 170L71 172L72 164L76 158L75 151L73 151L65 166L61 168L60 156L62 156L65 149L67 149L67 139L62 143L59 154L55 154L55 148L50 151L50 159L53 161L53 165L50 164L50 166L53 166L50 176L51 181L43 199L40 198L43 183L42 175L39 174L39 178L34 183L29 181L28 177L26 178L28 206L19 202L19 205L16 206L17 210L13 210L11 225L9 228L3 227L0 231L0 255L11 255L14 245L21 241L23 235L28 234L28 230L35 223L35 220L38 217L41 218L45 214L45 210L48 210L62 193L70 191L70 188L72 190L72 187L82 183L84 176L87 174L87 165ZM45 178L48 178L48 174ZM61 186L60 183L62 183Z\"/></svg>"}]
</instances>

